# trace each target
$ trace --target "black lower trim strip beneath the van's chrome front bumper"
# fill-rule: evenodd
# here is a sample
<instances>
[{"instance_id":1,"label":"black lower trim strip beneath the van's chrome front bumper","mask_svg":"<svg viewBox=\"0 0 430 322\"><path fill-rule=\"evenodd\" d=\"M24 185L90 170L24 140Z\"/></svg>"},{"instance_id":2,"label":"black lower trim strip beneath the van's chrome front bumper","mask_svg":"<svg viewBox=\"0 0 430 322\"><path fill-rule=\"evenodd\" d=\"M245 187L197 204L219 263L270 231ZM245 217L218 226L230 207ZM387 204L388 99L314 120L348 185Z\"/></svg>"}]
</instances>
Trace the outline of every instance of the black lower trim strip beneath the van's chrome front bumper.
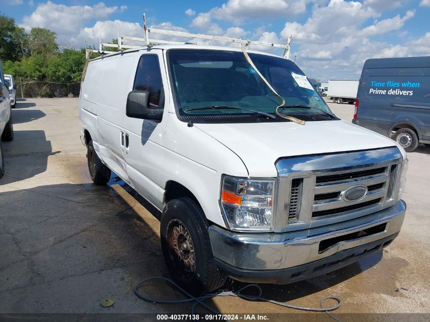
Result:
<instances>
[{"instance_id":1,"label":"black lower trim strip beneath the van's chrome front bumper","mask_svg":"<svg viewBox=\"0 0 430 322\"><path fill-rule=\"evenodd\" d=\"M231 266L218 258L215 258L215 263L220 271L239 281L289 284L327 274L348 266L367 255L382 250L384 247L388 246L397 235L398 232L375 242L342 250L331 256L307 264L280 270L245 270Z\"/></svg>"}]
</instances>

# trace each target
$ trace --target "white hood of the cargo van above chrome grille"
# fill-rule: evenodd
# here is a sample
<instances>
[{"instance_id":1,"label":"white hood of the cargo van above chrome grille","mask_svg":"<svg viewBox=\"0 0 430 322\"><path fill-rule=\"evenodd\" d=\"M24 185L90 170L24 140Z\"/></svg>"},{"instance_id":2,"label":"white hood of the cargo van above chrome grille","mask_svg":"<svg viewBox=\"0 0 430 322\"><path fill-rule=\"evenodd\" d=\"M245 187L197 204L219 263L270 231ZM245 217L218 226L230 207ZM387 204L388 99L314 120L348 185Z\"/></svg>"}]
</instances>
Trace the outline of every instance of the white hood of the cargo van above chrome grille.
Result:
<instances>
[{"instance_id":1,"label":"white hood of the cargo van above chrome grille","mask_svg":"<svg viewBox=\"0 0 430 322\"><path fill-rule=\"evenodd\" d=\"M345 121L306 122L306 125L280 122L194 126L236 153L248 169L250 177L276 177L275 162L281 157L397 145L385 136Z\"/></svg>"}]
</instances>

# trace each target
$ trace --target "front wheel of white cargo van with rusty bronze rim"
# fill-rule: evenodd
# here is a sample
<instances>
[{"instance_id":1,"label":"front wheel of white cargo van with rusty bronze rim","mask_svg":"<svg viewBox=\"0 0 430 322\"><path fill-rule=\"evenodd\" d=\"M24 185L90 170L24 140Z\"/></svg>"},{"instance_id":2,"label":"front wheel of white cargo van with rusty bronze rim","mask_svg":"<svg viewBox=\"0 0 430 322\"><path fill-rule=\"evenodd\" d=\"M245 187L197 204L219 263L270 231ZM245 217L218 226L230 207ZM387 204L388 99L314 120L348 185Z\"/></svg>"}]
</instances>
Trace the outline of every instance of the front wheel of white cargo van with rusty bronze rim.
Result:
<instances>
[{"instance_id":1,"label":"front wheel of white cargo van with rusty bronze rim","mask_svg":"<svg viewBox=\"0 0 430 322\"><path fill-rule=\"evenodd\" d=\"M215 266L208 222L190 198L170 200L161 217L161 248L167 268L182 288L198 296L221 287L226 277Z\"/></svg>"}]
</instances>

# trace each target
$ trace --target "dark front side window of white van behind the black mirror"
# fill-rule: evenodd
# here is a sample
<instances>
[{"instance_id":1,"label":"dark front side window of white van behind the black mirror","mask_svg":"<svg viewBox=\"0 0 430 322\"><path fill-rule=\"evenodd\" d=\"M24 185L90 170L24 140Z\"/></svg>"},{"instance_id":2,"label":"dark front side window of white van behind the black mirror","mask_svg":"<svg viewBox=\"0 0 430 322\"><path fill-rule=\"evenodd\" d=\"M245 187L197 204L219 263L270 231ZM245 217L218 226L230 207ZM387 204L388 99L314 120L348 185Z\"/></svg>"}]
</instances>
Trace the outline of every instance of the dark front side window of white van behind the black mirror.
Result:
<instances>
[{"instance_id":1,"label":"dark front side window of white van behind the black mirror","mask_svg":"<svg viewBox=\"0 0 430 322\"><path fill-rule=\"evenodd\" d=\"M142 55L137 65L133 91L148 91L149 105L164 107L164 91L158 57Z\"/></svg>"}]
</instances>

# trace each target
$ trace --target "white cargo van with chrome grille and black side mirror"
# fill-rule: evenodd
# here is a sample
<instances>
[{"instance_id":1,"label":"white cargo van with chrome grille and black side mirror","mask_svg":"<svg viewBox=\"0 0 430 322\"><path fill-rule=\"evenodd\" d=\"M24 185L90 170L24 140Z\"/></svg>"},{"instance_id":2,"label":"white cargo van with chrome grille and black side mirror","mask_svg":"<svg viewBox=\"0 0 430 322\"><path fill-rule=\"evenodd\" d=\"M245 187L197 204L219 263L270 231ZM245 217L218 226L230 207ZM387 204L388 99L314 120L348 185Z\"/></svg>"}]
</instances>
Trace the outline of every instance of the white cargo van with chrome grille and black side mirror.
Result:
<instances>
[{"instance_id":1,"label":"white cargo van with chrome grille and black side mirror","mask_svg":"<svg viewBox=\"0 0 430 322\"><path fill-rule=\"evenodd\" d=\"M231 47L133 48L82 81L91 178L114 171L162 212L166 264L194 294L325 274L387 246L405 216L405 151L336 118L292 61L248 53L254 66Z\"/></svg>"}]
</instances>

